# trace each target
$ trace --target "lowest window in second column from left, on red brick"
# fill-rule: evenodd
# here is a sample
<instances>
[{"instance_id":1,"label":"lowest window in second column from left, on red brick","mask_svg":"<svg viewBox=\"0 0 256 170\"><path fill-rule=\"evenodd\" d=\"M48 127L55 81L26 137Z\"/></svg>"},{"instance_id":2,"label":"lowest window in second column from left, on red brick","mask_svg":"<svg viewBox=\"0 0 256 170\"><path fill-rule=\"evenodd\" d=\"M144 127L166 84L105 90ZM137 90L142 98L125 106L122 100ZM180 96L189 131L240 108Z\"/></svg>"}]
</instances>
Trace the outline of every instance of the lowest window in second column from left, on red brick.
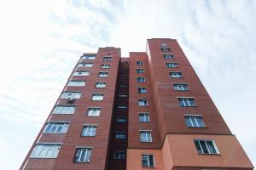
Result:
<instances>
[{"instance_id":1,"label":"lowest window in second column from left, on red brick","mask_svg":"<svg viewBox=\"0 0 256 170\"><path fill-rule=\"evenodd\" d=\"M74 157L74 162L85 163L90 162L91 148L78 148Z\"/></svg>"}]
</instances>

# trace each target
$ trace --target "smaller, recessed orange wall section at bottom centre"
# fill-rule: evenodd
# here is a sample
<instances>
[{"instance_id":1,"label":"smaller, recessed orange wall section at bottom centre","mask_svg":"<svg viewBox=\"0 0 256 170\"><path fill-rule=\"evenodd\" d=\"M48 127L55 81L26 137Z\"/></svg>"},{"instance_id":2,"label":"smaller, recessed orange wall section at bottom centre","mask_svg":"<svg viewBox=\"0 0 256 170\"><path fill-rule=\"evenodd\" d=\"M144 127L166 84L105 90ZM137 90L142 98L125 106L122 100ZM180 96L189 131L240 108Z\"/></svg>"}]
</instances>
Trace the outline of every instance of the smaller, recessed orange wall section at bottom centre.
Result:
<instances>
[{"instance_id":1,"label":"smaller, recessed orange wall section at bottom centre","mask_svg":"<svg viewBox=\"0 0 256 170\"><path fill-rule=\"evenodd\" d=\"M154 155L154 168L142 167L142 154ZM138 149L127 149L127 170L164 170L163 157L161 150L138 150Z\"/></svg>"}]
</instances>

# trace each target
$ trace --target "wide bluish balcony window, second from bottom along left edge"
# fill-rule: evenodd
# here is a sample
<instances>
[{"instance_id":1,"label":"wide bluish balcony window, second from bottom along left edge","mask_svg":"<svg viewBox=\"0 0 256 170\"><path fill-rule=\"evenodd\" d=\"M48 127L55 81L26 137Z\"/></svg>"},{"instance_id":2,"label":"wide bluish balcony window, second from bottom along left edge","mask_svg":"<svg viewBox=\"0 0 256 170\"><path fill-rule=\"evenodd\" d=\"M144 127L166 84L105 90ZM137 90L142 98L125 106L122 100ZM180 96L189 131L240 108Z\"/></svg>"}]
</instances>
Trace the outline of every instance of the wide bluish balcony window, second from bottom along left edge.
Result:
<instances>
[{"instance_id":1,"label":"wide bluish balcony window, second from bottom along left edge","mask_svg":"<svg viewBox=\"0 0 256 170\"><path fill-rule=\"evenodd\" d=\"M68 122L49 122L44 128L44 133L67 133Z\"/></svg>"}]
</instances>

